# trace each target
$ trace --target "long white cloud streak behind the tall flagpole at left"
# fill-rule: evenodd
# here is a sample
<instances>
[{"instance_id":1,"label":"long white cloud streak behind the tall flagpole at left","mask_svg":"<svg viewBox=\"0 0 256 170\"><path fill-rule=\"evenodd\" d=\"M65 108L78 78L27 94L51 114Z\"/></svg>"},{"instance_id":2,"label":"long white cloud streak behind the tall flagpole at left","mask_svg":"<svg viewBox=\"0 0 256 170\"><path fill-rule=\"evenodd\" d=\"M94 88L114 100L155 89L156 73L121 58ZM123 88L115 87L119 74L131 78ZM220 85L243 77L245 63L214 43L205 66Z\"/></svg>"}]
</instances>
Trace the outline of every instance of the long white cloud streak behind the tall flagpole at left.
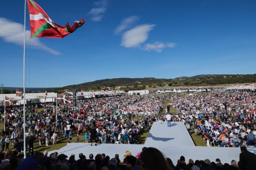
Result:
<instances>
[{"instance_id":1,"label":"long white cloud streak behind the tall flagpole at left","mask_svg":"<svg viewBox=\"0 0 256 170\"><path fill-rule=\"evenodd\" d=\"M23 45L24 41L24 25L13 22L11 20L0 18L0 37L4 39L4 41L8 43L14 43L17 45ZM60 54L56 50L49 48L42 44L38 38L30 39L30 31L26 30L26 44L30 44L30 47L45 50L51 54L58 55ZM30 39L30 42L29 42Z\"/></svg>"}]
</instances>

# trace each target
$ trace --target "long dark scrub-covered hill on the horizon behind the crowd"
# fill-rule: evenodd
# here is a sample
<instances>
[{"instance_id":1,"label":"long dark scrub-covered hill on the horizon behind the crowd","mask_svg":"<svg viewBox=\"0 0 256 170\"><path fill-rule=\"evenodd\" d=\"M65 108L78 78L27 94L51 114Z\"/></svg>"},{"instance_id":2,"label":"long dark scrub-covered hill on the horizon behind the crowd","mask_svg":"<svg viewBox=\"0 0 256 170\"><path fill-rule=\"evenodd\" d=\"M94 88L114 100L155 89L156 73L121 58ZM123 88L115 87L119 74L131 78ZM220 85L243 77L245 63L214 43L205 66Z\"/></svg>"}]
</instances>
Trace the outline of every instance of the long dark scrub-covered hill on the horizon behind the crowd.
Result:
<instances>
[{"instance_id":1,"label":"long dark scrub-covered hill on the horizon behind the crowd","mask_svg":"<svg viewBox=\"0 0 256 170\"><path fill-rule=\"evenodd\" d=\"M138 89L138 87L164 87L167 86L207 86L217 84L231 84L231 83L253 83L256 82L256 74L200 74L193 77L178 77L175 79L156 79L156 78L116 78L103 79L82 84L74 84L65 86L61 89L69 90L100 90L107 87L121 87L122 89L129 87L129 89ZM127 90L127 88L126 88Z\"/></svg>"}]
</instances>

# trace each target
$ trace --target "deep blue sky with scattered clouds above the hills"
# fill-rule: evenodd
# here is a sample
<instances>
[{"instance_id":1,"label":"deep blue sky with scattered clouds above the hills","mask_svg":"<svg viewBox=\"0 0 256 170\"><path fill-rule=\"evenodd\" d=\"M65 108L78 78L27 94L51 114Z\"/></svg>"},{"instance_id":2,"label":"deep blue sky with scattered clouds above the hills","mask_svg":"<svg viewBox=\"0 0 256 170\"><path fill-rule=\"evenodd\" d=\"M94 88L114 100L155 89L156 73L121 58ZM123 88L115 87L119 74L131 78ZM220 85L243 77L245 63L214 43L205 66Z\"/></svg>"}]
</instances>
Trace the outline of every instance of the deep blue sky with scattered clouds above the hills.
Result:
<instances>
[{"instance_id":1,"label":"deep blue sky with scattered clouds above the hills","mask_svg":"<svg viewBox=\"0 0 256 170\"><path fill-rule=\"evenodd\" d=\"M85 24L63 39L27 38L26 87L255 73L254 0L35 2L59 25L81 19ZM23 87L23 24L24 1L1 2L0 83L5 87Z\"/></svg>"}]
</instances>

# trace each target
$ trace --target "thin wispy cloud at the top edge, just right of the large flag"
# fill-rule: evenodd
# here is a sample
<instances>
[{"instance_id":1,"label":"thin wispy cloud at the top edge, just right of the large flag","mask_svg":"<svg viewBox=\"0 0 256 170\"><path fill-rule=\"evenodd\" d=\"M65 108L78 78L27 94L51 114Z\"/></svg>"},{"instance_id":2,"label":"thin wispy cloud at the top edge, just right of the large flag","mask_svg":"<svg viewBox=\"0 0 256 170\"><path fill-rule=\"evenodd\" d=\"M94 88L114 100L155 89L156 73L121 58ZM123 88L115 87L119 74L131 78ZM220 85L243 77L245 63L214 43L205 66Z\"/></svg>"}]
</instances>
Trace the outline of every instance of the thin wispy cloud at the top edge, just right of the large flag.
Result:
<instances>
[{"instance_id":1,"label":"thin wispy cloud at the top edge, just right of the large flag","mask_svg":"<svg viewBox=\"0 0 256 170\"><path fill-rule=\"evenodd\" d=\"M94 6L97 6L97 7L93 7L91 9L91 11L88 13L88 15L92 16L91 20L94 22L101 21L103 18L102 14L105 13L107 10L107 5L108 5L107 0L101 0L99 2L94 2Z\"/></svg>"}]
</instances>

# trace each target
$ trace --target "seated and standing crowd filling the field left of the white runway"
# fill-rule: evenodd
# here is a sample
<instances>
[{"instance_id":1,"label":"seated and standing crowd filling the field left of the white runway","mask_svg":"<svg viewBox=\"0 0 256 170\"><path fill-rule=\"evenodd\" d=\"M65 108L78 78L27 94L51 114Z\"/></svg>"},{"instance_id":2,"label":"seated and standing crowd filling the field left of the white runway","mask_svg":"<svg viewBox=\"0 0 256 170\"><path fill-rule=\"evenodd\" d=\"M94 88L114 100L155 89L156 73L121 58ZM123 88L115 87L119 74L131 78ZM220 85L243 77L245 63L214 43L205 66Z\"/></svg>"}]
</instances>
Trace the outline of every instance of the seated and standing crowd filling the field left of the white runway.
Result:
<instances>
[{"instance_id":1,"label":"seated and standing crowd filling the field left of the white runway","mask_svg":"<svg viewBox=\"0 0 256 170\"><path fill-rule=\"evenodd\" d=\"M155 120L156 113L163 108L163 97L157 95L110 96L77 102L81 109L70 109L68 105L59 104L57 116L54 103L26 105L25 135L23 106L6 107L5 129L1 131L1 152L11 148L10 144L20 153L24 149L34 151L36 144L58 145L59 138L65 138L70 143L76 137L79 142L83 134L86 142L94 140L97 143L118 141L134 144ZM38 112L38 108L43 109ZM95 131L89 134L91 129Z\"/></svg>"}]
</instances>

